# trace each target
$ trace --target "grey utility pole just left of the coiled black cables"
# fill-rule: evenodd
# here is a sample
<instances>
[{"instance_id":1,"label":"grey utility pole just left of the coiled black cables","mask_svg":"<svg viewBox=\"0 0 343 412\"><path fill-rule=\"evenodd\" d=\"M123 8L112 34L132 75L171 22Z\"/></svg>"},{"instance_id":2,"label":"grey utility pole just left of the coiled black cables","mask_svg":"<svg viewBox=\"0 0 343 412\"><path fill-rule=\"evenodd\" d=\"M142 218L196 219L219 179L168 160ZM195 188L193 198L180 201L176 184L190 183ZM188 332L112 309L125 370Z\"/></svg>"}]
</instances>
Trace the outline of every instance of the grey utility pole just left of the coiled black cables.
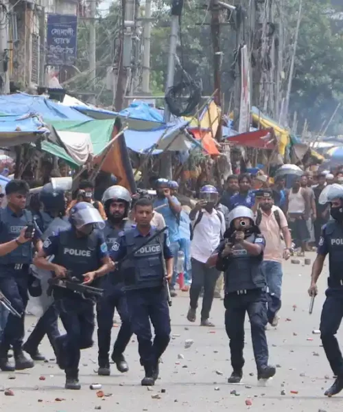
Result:
<instances>
[{"instance_id":1,"label":"grey utility pole just left of the coiled black cables","mask_svg":"<svg viewBox=\"0 0 343 412\"><path fill-rule=\"evenodd\" d=\"M174 86L174 74L175 74L175 56L176 46L178 44L178 19L182 14L182 2L173 0L171 3L171 22L170 22L170 35L169 35L169 55L168 55L168 69L167 69L167 82L165 84L165 93ZM167 104L165 104L164 120L165 123L170 121L170 111ZM171 168L171 153L165 152L163 157L163 163L161 164L161 176L165 179L172 178Z\"/></svg>"}]
</instances>

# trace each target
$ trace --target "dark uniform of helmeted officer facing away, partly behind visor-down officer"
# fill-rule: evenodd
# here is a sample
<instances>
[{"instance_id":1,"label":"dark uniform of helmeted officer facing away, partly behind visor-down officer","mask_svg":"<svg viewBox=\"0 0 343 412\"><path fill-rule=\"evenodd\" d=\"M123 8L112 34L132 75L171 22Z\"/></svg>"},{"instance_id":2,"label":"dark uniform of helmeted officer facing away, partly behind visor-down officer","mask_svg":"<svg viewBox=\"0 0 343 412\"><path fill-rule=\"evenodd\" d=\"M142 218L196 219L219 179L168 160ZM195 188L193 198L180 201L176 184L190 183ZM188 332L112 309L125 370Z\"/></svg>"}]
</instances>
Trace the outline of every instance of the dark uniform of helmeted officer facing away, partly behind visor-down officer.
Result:
<instances>
[{"instance_id":1,"label":"dark uniform of helmeted officer facing away, partly behind visor-down officer","mask_svg":"<svg viewBox=\"0 0 343 412\"><path fill-rule=\"evenodd\" d=\"M54 231L71 226L67 218L53 218L45 211L40 212L40 216L38 216L38 218L41 219L41 222L38 223L38 227L40 227L40 230L43 231L43 241ZM58 310L55 304L52 304L45 311L43 316L40 317L34 330L23 345L23 350L29 353L30 356L36 361L44 360L44 356L38 352L38 345L43 340L45 334L47 334L47 337L55 352L55 342L58 336L60 336L60 331L58 330Z\"/></svg>"}]
</instances>

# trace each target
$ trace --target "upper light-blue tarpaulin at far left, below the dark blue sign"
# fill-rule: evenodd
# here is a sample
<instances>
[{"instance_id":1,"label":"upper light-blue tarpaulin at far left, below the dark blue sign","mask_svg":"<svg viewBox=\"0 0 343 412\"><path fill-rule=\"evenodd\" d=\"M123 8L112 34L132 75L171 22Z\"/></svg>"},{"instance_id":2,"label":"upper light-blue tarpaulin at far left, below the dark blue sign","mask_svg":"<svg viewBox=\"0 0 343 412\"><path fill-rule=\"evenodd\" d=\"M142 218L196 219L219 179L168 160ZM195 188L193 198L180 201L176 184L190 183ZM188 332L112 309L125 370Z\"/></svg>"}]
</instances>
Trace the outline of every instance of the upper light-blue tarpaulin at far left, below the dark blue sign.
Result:
<instances>
[{"instance_id":1,"label":"upper light-blue tarpaulin at far left, below the dark blue sign","mask_svg":"<svg viewBox=\"0 0 343 412\"><path fill-rule=\"evenodd\" d=\"M90 117L74 108L63 106L43 96L16 93L0 96L0 112L21 116L26 113L39 115L47 120L89 120Z\"/></svg>"}]
</instances>

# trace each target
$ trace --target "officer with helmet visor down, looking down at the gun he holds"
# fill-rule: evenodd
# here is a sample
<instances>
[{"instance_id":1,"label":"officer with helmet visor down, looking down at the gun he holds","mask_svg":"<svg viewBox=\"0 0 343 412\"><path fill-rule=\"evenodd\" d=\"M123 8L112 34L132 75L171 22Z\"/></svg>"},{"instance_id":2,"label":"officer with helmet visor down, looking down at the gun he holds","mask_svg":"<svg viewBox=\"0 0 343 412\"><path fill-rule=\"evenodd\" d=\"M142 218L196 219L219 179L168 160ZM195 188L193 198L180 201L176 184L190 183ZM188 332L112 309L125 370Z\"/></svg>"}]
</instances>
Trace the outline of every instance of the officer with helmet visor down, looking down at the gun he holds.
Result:
<instances>
[{"instance_id":1,"label":"officer with helmet visor down, looking down at the gun he holds","mask_svg":"<svg viewBox=\"0 0 343 412\"><path fill-rule=\"evenodd\" d=\"M113 270L104 235L105 222L93 205L80 202L70 210L71 228L54 233L43 243L34 264L66 277L70 271L80 282L106 275ZM97 230L100 229L100 230ZM47 256L54 255L49 262ZM54 288L54 298L67 334L56 339L57 362L66 374L65 389L80 389L80 350L93 345L93 299L66 288Z\"/></svg>"}]
</instances>

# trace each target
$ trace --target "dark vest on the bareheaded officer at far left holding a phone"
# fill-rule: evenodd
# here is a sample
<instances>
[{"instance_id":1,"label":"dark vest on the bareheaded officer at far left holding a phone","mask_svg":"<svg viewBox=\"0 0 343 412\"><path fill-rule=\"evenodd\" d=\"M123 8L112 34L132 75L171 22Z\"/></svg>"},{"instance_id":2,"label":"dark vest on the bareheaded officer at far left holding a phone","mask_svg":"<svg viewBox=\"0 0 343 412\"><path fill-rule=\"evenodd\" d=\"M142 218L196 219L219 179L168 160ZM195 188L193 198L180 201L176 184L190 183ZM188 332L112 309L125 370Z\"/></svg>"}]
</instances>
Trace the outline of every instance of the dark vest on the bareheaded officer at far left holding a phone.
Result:
<instances>
[{"instance_id":1,"label":"dark vest on the bareheaded officer at far left holding a phone","mask_svg":"<svg viewBox=\"0 0 343 412\"><path fill-rule=\"evenodd\" d=\"M23 210L21 216L14 216L8 208L0 209L2 229L0 231L0 244L18 238L21 229L33 221L32 212ZM5 256L0 256L0 265L5 264L30 264L32 262L32 242L26 242Z\"/></svg>"}]
</instances>

